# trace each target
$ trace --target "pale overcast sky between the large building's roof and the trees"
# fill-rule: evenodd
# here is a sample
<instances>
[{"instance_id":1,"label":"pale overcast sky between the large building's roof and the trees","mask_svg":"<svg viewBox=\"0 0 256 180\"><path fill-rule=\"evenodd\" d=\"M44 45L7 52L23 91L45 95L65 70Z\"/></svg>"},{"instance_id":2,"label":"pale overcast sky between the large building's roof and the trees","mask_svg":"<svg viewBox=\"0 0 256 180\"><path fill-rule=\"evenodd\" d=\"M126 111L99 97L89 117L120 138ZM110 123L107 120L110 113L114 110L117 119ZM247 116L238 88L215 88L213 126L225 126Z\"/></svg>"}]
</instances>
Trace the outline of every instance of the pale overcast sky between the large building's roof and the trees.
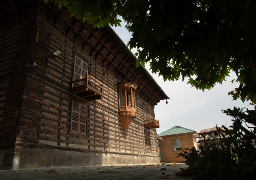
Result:
<instances>
[{"instance_id":1,"label":"pale overcast sky between the large building's roof and the trees","mask_svg":"<svg viewBox=\"0 0 256 180\"><path fill-rule=\"evenodd\" d=\"M121 40L127 45L131 35L122 27L112 28ZM135 53L136 51L132 51ZM241 100L234 101L232 96L228 96L228 92L238 87L238 84L231 84L232 79L236 79L235 74L231 74L225 82L216 85L210 91L197 90L192 88L190 84L186 84L186 80L163 81L163 78L156 74L152 74L149 66L145 67L158 85L163 89L165 94L170 98L168 104L161 101L155 106L155 118L160 120L160 128L157 133L166 131L173 126L181 126L197 132L202 129L212 128L216 124L221 127L232 124L231 117L223 113L222 109L233 107L246 107L250 102L243 103Z\"/></svg>"}]
</instances>

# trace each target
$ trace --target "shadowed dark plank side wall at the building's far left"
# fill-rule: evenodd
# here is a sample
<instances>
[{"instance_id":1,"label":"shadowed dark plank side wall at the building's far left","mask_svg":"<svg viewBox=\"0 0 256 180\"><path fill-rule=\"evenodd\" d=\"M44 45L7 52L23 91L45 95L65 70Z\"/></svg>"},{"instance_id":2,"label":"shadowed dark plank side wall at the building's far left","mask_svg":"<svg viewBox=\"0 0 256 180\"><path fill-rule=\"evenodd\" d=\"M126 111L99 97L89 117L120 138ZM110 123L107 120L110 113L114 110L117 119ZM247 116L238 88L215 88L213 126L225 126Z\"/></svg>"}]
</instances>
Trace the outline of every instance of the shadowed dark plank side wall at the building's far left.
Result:
<instances>
[{"instance_id":1,"label":"shadowed dark plank side wall at the building's far left","mask_svg":"<svg viewBox=\"0 0 256 180\"><path fill-rule=\"evenodd\" d=\"M13 6L13 1L1 1L0 4L0 149L12 158L36 8L33 2L26 7L20 2ZM11 159L4 157L4 163L10 165Z\"/></svg>"}]
</instances>

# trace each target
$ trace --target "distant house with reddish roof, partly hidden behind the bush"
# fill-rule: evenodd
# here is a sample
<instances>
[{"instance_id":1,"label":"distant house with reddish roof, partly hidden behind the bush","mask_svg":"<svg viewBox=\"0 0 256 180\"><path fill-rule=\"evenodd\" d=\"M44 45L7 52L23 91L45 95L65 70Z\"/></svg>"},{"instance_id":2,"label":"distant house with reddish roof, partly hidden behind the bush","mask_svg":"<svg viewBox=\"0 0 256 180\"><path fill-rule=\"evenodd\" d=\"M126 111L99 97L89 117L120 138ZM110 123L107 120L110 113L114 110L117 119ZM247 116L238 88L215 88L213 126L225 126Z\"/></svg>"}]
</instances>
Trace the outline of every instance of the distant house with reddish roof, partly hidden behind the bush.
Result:
<instances>
[{"instance_id":1,"label":"distant house with reddish roof, partly hidden behind the bush","mask_svg":"<svg viewBox=\"0 0 256 180\"><path fill-rule=\"evenodd\" d=\"M225 134L223 127L221 127L219 131L220 131L220 134ZM215 143L220 142L220 134L218 133L218 130L216 127L213 127L210 129L202 129L198 134L200 136L200 139L198 140L199 146L205 146L204 136L205 136L205 140L208 142L208 145L213 143L213 139Z\"/></svg>"}]
</instances>

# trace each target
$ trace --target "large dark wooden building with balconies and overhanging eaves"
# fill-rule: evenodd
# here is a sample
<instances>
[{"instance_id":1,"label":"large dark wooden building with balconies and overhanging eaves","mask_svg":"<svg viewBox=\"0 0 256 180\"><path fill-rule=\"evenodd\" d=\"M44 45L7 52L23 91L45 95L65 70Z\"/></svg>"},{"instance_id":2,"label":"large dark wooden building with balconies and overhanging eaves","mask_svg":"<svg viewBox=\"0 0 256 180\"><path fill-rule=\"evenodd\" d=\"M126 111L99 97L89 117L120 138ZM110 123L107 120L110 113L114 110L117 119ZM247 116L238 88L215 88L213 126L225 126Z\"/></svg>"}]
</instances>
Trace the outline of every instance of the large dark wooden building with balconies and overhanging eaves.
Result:
<instances>
[{"instance_id":1,"label":"large dark wooden building with balconies and overhanging eaves","mask_svg":"<svg viewBox=\"0 0 256 180\"><path fill-rule=\"evenodd\" d=\"M168 96L111 28L50 2L0 10L1 169L159 162Z\"/></svg>"}]
</instances>

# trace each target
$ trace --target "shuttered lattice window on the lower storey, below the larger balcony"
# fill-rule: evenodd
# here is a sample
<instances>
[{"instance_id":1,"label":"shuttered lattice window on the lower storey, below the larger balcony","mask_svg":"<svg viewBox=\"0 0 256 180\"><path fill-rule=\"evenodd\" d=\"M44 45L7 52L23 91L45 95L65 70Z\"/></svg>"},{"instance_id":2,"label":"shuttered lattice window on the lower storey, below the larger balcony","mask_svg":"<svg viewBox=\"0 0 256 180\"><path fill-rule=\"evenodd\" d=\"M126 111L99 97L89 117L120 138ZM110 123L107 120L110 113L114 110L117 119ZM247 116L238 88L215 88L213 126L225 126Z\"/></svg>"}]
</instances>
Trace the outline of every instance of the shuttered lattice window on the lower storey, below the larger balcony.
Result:
<instances>
[{"instance_id":1,"label":"shuttered lattice window on the lower storey, below the larger balcony","mask_svg":"<svg viewBox=\"0 0 256 180\"><path fill-rule=\"evenodd\" d=\"M71 131L86 133L86 106L72 102Z\"/></svg>"}]
</instances>

